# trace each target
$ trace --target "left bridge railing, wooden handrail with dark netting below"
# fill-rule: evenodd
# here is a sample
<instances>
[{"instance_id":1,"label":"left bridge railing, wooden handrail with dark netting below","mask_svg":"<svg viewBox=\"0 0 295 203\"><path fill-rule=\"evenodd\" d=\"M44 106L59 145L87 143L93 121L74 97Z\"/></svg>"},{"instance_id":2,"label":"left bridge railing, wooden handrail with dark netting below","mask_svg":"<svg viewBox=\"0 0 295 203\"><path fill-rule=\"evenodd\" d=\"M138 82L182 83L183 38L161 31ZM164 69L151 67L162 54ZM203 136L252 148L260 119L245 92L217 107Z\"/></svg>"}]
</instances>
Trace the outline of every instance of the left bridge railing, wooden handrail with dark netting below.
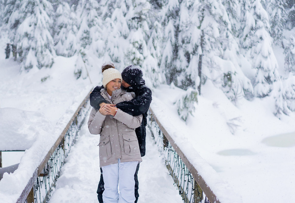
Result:
<instances>
[{"instance_id":1,"label":"left bridge railing, wooden handrail with dark netting below","mask_svg":"<svg viewBox=\"0 0 295 203\"><path fill-rule=\"evenodd\" d=\"M52 188L55 187L55 182L60 175L60 169L65 164L65 158L74 145L80 127L90 110L89 95L90 93L78 107L55 145L51 147L42 163L35 170L17 203L45 203L49 200Z\"/></svg>"}]
</instances>

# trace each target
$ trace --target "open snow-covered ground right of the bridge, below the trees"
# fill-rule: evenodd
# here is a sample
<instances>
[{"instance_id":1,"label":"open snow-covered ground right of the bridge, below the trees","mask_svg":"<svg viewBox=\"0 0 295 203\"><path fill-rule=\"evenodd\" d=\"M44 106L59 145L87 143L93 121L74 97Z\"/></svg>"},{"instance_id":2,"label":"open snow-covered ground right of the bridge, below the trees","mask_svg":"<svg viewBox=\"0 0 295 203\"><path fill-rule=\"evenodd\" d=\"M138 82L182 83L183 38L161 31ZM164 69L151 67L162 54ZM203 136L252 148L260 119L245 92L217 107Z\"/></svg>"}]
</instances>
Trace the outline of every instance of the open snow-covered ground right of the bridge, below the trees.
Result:
<instances>
[{"instance_id":1,"label":"open snow-covered ground right of the bridge, below the trees","mask_svg":"<svg viewBox=\"0 0 295 203\"><path fill-rule=\"evenodd\" d=\"M202 91L186 123L173 105L183 90L157 88L151 107L168 132L177 130L171 135L176 143L184 149L192 145L244 203L274 202L273 194L282 202L295 201L294 114L273 116L268 98L240 99L234 106L210 81ZM193 151L186 156L194 160Z\"/></svg>"}]
</instances>

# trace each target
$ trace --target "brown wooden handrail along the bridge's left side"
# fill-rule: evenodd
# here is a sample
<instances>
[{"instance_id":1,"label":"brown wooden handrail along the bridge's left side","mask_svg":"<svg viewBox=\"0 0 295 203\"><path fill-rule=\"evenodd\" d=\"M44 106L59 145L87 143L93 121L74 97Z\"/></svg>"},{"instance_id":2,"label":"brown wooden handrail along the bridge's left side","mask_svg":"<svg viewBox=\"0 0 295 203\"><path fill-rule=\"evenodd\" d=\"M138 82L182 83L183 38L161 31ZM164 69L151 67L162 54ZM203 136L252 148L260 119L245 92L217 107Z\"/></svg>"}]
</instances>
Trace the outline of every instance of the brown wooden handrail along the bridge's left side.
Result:
<instances>
[{"instance_id":1,"label":"brown wooden handrail along the bridge's left side","mask_svg":"<svg viewBox=\"0 0 295 203\"><path fill-rule=\"evenodd\" d=\"M40 165L36 168L35 172L33 173L32 177L30 178L29 182L27 183L27 186L24 188L24 190L22 191L22 194L17 199L17 203L24 203L25 202L28 194L30 193L32 187L35 184L35 181L37 180L38 176L42 173L42 170L44 169L44 167L47 164L48 160L50 159L51 155L53 155L53 152L55 151L55 149L60 144L61 140L65 137L66 132L68 131L68 129L71 126L71 123L75 120L75 118L78 115L78 112L80 111L82 106L89 100L91 91L88 93L88 95L83 100L83 102L79 105L78 109L76 110L76 112L72 116L71 120L68 122L68 124L64 128L63 132L60 134L60 136L56 140L55 144L50 148L50 150L47 152L47 155L44 157L44 159L42 160Z\"/></svg>"}]
</instances>

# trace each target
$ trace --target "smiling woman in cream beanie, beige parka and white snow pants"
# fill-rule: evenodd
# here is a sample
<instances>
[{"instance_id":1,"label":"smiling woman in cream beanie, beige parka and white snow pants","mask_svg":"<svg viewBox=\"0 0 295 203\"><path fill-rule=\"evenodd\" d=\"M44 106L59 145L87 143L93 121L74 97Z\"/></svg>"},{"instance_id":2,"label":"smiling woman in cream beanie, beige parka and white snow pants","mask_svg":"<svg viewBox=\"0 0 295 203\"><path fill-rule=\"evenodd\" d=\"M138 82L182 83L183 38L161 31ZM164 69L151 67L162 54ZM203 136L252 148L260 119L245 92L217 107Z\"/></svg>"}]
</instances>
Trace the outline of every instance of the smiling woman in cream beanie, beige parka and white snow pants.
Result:
<instances>
[{"instance_id":1,"label":"smiling woman in cream beanie, beige parka and white snow pants","mask_svg":"<svg viewBox=\"0 0 295 203\"><path fill-rule=\"evenodd\" d=\"M104 64L101 69L104 85L101 95L108 103L117 104L135 97L134 93L121 90L122 76L114 64ZM106 203L135 201L134 174L142 161L135 128L140 126L141 120L142 115L132 116L115 106L103 105L99 111L91 110L88 129L91 134L100 134L99 162L104 174L103 200Z\"/></svg>"}]
</instances>

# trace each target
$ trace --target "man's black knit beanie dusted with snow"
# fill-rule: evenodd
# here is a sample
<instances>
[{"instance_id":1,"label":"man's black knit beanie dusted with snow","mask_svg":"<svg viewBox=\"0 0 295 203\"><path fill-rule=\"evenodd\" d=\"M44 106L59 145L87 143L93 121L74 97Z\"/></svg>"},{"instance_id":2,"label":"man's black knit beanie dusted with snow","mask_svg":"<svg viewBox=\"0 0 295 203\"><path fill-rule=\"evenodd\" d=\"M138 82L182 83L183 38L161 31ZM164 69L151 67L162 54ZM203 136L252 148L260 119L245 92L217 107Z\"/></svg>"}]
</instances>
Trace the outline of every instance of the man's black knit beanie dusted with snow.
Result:
<instances>
[{"instance_id":1,"label":"man's black knit beanie dusted with snow","mask_svg":"<svg viewBox=\"0 0 295 203\"><path fill-rule=\"evenodd\" d=\"M142 80L142 75L142 70L134 65L128 66L122 71L122 78L129 85L139 84Z\"/></svg>"}]
</instances>

